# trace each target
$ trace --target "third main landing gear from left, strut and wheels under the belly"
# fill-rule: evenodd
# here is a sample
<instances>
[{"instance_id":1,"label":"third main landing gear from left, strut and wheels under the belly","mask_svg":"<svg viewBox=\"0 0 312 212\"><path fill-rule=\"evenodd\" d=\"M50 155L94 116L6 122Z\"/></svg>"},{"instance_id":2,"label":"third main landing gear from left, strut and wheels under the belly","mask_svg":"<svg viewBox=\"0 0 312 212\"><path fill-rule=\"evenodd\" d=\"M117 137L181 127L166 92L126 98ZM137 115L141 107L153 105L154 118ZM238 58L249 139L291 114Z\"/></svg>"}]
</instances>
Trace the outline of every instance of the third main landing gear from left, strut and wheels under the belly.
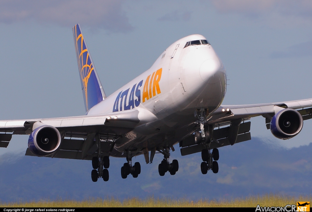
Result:
<instances>
[{"instance_id":1,"label":"third main landing gear from left, strut and wheels under the belly","mask_svg":"<svg viewBox=\"0 0 312 212\"><path fill-rule=\"evenodd\" d=\"M164 176L166 172L169 172L171 175L175 175L175 173L179 170L178 160L173 160L170 164L169 162L169 148L162 149L160 153L163 154L164 159L158 165L158 172L160 176Z\"/></svg>"}]
</instances>

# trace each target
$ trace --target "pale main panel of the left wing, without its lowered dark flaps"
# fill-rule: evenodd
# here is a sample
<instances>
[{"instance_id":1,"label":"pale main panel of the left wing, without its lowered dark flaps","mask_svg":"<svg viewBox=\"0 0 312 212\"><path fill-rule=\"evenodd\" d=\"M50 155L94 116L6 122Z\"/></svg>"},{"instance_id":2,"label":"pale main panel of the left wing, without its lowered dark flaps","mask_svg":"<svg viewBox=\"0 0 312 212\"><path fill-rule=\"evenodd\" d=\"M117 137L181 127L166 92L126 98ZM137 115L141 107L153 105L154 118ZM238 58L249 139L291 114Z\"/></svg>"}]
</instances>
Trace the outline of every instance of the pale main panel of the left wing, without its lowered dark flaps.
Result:
<instances>
[{"instance_id":1,"label":"pale main panel of the left wing, without its lowered dark flaps","mask_svg":"<svg viewBox=\"0 0 312 212\"><path fill-rule=\"evenodd\" d=\"M59 131L79 131L82 133L112 131L117 135L122 135L125 133L124 131L132 130L139 123L138 115L139 111L133 110L131 112L106 113L90 116L3 120L0 121L0 132L13 132L13 134L25 135L30 134L27 130L33 131L36 126L50 125L57 128Z\"/></svg>"}]
</instances>

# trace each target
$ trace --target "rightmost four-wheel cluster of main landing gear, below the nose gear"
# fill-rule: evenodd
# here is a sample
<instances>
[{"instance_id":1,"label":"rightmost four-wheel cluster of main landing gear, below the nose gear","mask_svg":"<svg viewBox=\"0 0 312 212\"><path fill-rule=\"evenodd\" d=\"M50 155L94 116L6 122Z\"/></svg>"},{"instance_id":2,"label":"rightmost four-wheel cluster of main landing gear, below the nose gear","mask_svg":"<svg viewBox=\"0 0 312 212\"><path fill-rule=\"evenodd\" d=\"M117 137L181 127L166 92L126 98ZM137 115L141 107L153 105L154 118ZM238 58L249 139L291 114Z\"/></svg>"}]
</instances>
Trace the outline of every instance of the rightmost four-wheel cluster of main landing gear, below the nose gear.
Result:
<instances>
[{"instance_id":1,"label":"rightmost four-wheel cluster of main landing gear, below the nose gear","mask_svg":"<svg viewBox=\"0 0 312 212\"><path fill-rule=\"evenodd\" d=\"M204 149L202 150L202 164L200 164L200 169L203 174L207 174L207 171L212 169L213 173L218 173L219 165L217 160L219 159L219 150L214 148L212 153L210 150Z\"/></svg>"}]
</instances>

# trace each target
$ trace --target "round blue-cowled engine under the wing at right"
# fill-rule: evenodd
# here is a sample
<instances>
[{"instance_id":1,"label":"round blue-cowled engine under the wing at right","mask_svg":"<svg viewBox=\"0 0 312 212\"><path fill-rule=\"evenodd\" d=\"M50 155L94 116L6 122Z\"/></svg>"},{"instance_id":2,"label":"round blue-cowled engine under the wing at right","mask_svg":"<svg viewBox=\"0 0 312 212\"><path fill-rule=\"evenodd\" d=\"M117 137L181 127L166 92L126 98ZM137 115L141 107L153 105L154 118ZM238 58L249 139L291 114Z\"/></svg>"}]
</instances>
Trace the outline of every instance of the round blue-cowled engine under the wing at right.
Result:
<instances>
[{"instance_id":1,"label":"round blue-cowled engine under the wing at right","mask_svg":"<svg viewBox=\"0 0 312 212\"><path fill-rule=\"evenodd\" d=\"M287 108L273 116L270 129L275 137L285 140L298 135L302 126L301 114L294 109Z\"/></svg>"}]
</instances>

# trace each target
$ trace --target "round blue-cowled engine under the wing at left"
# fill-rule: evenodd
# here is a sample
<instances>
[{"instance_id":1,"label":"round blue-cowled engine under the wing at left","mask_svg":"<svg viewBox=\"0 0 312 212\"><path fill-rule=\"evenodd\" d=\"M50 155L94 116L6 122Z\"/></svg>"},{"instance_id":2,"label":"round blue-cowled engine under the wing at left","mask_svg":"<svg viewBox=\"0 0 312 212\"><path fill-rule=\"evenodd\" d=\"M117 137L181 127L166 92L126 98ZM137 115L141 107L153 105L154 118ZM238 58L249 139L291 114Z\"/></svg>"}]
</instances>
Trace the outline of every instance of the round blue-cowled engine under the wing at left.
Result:
<instances>
[{"instance_id":1,"label":"round blue-cowled engine under the wing at left","mask_svg":"<svg viewBox=\"0 0 312 212\"><path fill-rule=\"evenodd\" d=\"M43 125L32 131L28 139L29 150L37 156L52 154L61 145L61 134L52 126Z\"/></svg>"}]
</instances>

